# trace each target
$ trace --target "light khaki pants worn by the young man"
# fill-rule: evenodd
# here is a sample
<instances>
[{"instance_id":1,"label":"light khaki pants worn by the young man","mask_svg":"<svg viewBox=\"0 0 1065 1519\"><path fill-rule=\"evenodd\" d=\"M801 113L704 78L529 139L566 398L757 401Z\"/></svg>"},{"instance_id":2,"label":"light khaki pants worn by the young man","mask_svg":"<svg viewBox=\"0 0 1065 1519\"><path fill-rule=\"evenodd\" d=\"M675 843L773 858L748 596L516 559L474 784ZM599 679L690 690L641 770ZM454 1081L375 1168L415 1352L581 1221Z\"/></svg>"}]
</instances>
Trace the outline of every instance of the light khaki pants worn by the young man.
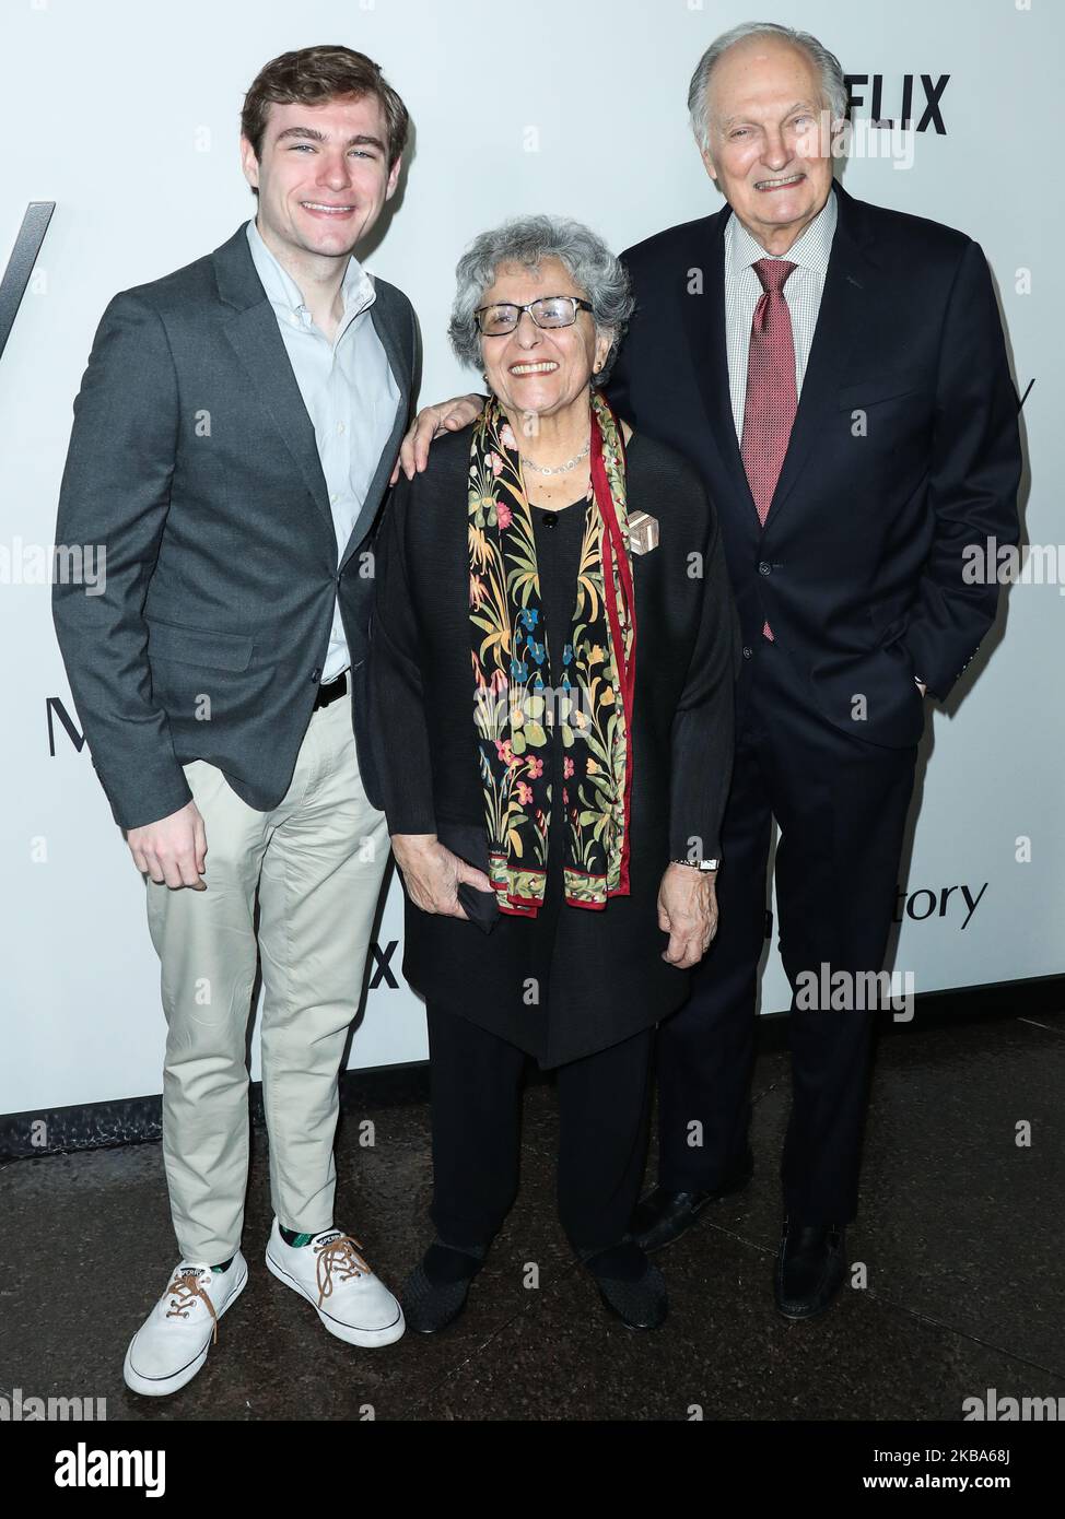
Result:
<instances>
[{"instance_id":1,"label":"light khaki pants worn by the young man","mask_svg":"<svg viewBox=\"0 0 1065 1519\"><path fill-rule=\"evenodd\" d=\"M286 1227L318 1233L333 1223L337 1074L389 838L362 787L346 697L311 715L292 785L269 813L202 760L184 770L207 829L207 890L147 880L147 921L169 1028L170 1212L182 1258L216 1265L240 1246L248 1189L255 892L270 1197Z\"/></svg>"}]
</instances>

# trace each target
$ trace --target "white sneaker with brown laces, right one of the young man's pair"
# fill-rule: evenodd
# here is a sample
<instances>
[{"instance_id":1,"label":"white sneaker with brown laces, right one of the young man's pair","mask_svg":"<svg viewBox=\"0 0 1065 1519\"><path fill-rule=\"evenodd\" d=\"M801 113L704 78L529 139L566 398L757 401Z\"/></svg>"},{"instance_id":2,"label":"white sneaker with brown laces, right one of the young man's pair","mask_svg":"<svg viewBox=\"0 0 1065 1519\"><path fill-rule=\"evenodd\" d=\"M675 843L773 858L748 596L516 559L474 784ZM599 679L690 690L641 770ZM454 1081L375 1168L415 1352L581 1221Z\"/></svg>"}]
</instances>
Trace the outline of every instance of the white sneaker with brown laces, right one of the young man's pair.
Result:
<instances>
[{"instance_id":1,"label":"white sneaker with brown laces, right one of the young man's pair","mask_svg":"<svg viewBox=\"0 0 1065 1519\"><path fill-rule=\"evenodd\" d=\"M266 1246L266 1265L286 1287L301 1293L330 1334L348 1344L392 1344L407 1328L403 1308L359 1255L357 1240L325 1229L308 1244L286 1244L277 1218ZM325 1306L328 1300L328 1308Z\"/></svg>"}]
</instances>

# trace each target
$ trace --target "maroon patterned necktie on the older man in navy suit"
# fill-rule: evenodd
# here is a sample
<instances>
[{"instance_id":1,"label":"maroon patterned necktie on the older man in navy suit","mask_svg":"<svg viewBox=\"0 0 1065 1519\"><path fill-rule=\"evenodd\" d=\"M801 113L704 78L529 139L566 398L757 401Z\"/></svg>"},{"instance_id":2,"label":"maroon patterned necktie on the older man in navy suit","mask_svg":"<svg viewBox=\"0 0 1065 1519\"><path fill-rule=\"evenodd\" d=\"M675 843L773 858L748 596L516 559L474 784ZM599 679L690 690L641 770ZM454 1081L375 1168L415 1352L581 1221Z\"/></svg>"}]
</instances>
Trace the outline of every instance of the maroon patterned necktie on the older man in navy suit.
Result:
<instances>
[{"instance_id":1,"label":"maroon patterned necktie on the older man in navy suit","mask_svg":"<svg viewBox=\"0 0 1065 1519\"><path fill-rule=\"evenodd\" d=\"M755 307L751 327L740 457L758 521L764 527L799 404L795 390L792 317L784 299L784 281L796 264L787 258L760 258L751 267L758 275L764 295ZM773 636L769 623L763 633L766 638Z\"/></svg>"}]
</instances>

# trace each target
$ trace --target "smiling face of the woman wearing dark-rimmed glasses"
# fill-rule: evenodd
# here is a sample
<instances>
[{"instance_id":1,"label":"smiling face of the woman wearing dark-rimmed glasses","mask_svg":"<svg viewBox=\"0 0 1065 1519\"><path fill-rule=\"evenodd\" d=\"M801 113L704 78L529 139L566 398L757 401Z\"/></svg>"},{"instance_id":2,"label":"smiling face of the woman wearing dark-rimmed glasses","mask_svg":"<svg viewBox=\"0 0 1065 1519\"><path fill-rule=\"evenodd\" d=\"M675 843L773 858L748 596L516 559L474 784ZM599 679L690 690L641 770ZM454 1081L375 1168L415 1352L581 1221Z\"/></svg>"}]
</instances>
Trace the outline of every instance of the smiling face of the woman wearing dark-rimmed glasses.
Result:
<instances>
[{"instance_id":1,"label":"smiling face of the woman wearing dark-rimmed glasses","mask_svg":"<svg viewBox=\"0 0 1065 1519\"><path fill-rule=\"evenodd\" d=\"M558 258L544 258L538 269L500 264L495 283L479 305L510 301L527 305L547 295L576 295L586 299ZM605 363L611 348L608 336L596 336L589 311L577 311L573 327L536 327L529 311L512 333L480 339L480 354L488 383L514 422L518 416L555 416L583 399L593 369Z\"/></svg>"}]
</instances>

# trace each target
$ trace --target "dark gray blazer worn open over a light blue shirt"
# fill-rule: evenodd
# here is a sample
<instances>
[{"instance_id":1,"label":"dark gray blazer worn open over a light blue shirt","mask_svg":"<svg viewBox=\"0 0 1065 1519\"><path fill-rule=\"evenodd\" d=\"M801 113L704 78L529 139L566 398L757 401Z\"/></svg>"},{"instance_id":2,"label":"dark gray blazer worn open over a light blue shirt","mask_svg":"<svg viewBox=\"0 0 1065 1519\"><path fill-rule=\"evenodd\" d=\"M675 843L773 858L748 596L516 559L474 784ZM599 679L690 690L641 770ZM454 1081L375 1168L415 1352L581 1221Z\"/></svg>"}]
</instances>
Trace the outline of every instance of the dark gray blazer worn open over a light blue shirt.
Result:
<instances>
[{"instance_id":1,"label":"dark gray blazer worn open over a light blue shirt","mask_svg":"<svg viewBox=\"0 0 1065 1519\"><path fill-rule=\"evenodd\" d=\"M337 595L359 764L371 801L380 794L365 700L372 535L410 415L418 333L403 292L375 286L400 403L339 562L314 430L246 223L103 313L74 399L56 544L103 548L105 589L56 582L52 606L122 828L184 807L191 760L217 766L260 811L281 801Z\"/></svg>"}]
</instances>

